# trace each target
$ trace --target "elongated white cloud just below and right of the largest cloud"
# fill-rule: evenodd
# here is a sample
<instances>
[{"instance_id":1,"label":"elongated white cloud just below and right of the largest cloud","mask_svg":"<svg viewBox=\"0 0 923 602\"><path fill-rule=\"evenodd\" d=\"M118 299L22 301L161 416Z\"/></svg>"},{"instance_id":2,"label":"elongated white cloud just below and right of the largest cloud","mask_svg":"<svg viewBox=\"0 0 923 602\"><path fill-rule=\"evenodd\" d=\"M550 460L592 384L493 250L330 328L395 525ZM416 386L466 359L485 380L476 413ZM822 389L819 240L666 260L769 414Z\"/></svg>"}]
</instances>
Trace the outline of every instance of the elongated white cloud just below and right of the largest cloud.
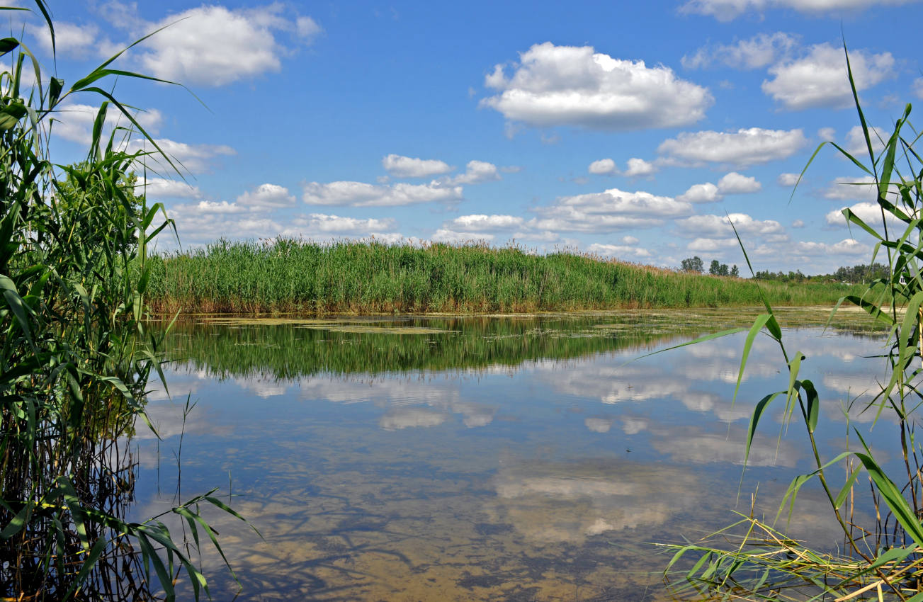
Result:
<instances>
[{"instance_id":1,"label":"elongated white cloud just below and right of the largest cloud","mask_svg":"<svg viewBox=\"0 0 923 602\"><path fill-rule=\"evenodd\" d=\"M800 129L750 127L736 132L683 132L665 139L657 150L678 162L746 166L785 159L807 143Z\"/></svg>"}]
</instances>

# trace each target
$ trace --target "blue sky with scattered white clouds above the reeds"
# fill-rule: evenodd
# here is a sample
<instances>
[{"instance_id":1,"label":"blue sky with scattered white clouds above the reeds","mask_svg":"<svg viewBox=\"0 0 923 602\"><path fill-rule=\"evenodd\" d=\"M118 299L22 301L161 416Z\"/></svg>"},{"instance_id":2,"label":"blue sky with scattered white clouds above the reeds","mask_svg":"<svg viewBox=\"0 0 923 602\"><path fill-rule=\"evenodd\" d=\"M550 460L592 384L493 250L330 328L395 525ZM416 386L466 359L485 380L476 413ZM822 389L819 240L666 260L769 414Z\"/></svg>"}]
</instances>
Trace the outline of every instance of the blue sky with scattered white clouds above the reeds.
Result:
<instances>
[{"instance_id":1,"label":"blue sky with scattered white clouds above the reeds","mask_svg":"<svg viewBox=\"0 0 923 602\"><path fill-rule=\"evenodd\" d=\"M749 275L734 223L754 270L825 273L871 259L843 208L881 219L830 145L794 189L822 142L869 161L844 43L882 136L923 101L912 0L48 4L56 59L39 16L2 17L66 86L160 30L114 66L185 88L104 87L181 165L140 172L164 252L484 241ZM86 155L100 102L62 103L55 162Z\"/></svg>"}]
</instances>

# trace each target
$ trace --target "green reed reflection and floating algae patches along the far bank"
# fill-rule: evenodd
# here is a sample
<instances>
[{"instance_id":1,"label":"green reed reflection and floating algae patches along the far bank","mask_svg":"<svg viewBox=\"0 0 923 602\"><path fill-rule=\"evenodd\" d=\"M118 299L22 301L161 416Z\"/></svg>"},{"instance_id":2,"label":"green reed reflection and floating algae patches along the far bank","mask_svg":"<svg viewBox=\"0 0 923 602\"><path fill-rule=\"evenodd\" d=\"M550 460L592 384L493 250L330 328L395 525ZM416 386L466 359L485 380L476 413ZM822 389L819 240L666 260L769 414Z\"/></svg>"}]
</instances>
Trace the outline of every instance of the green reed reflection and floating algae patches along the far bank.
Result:
<instances>
[{"instance_id":1,"label":"green reed reflection and floating algae patches along the far bank","mask_svg":"<svg viewBox=\"0 0 923 602\"><path fill-rule=\"evenodd\" d=\"M755 311L753 312L756 313ZM829 309L779 310L787 327L822 326ZM543 359L569 360L635 350L695 336L715 325L746 324L752 314L734 310L558 313L493 317L346 319L178 319L164 348L177 364L219 377L262 374L293 379L318 374L388 374L520 366ZM604 324L598 323L605 319ZM348 325L374 324L374 328ZM879 336L858 328L861 316L842 312L836 331ZM402 332L414 336L402 336ZM422 336L428 333L426 336Z\"/></svg>"}]
</instances>

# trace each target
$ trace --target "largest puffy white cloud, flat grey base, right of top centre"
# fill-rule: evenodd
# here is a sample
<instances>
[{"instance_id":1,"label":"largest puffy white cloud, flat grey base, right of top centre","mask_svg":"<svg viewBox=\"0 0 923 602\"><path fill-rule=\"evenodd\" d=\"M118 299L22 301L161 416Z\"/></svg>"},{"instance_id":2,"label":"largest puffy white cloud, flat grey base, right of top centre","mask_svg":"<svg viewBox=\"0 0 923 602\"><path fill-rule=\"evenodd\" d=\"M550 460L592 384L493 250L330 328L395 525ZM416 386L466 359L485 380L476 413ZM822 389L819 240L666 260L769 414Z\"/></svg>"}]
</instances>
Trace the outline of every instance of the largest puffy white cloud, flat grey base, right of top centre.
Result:
<instances>
[{"instance_id":1,"label":"largest puffy white cloud, flat grey base, right of top centre","mask_svg":"<svg viewBox=\"0 0 923 602\"><path fill-rule=\"evenodd\" d=\"M529 126L635 130L685 126L712 105L706 89L666 66L646 66L597 53L592 46L533 45L507 76L497 65L485 86L498 90L481 103Z\"/></svg>"}]
</instances>

